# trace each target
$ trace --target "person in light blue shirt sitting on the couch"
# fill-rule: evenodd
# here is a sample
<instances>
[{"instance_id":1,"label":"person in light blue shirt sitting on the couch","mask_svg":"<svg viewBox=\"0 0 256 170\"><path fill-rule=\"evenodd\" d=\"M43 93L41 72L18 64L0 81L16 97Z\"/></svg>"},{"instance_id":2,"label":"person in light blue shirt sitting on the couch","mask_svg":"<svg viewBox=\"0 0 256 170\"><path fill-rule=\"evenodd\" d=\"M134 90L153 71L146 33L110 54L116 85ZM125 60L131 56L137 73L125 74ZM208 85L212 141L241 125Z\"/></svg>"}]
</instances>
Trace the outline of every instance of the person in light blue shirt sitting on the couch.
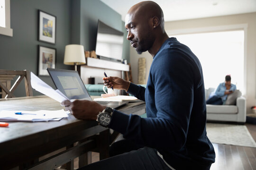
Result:
<instances>
[{"instance_id":1,"label":"person in light blue shirt sitting on the couch","mask_svg":"<svg viewBox=\"0 0 256 170\"><path fill-rule=\"evenodd\" d=\"M231 76L227 75L225 82L219 84L214 95L209 97L206 104L222 105L227 100L228 95L235 90L237 90L237 86L231 84Z\"/></svg>"}]
</instances>

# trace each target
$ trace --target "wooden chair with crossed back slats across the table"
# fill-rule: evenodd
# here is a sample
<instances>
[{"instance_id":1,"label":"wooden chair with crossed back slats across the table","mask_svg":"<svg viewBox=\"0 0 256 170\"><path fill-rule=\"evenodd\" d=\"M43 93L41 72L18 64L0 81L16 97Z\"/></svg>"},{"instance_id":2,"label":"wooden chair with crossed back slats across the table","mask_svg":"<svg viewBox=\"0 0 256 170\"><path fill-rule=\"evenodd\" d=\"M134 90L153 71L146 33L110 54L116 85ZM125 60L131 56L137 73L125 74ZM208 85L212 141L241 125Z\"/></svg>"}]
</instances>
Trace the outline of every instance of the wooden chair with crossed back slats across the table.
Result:
<instances>
[{"instance_id":1,"label":"wooden chair with crossed back slats across the table","mask_svg":"<svg viewBox=\"0 0 256 170\"><path fill-rule=\"evenodd\" d=\"M18 76L16 82L10 87L10 81ZM6 93L5 98L15 97L13 92L20 84L22 79L25 80L26 95L33 96L32 87L30 83L30 71L16 71L16 70L3 70L0 69L0 88L2 89L2 95ZM5 92L5 93L4 93ZM3 98L3 97L2 97Z\"/></svg>"}]
</instances>

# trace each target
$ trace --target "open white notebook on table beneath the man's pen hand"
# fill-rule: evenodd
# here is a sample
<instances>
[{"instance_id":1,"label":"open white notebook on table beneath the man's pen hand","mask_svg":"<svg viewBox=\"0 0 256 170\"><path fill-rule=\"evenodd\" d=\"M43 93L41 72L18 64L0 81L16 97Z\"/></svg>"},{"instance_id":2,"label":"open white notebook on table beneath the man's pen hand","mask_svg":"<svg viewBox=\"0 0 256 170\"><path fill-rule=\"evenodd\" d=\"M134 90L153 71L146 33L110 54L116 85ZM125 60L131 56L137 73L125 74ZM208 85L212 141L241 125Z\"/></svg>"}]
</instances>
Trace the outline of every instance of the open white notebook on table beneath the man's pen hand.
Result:
<instances>
[{"instance_id":1,"label":"open white notebook on table beneath the man's pen hand","mask_svg":"<svg viewBox=\"0 0 256 170\"><path fill-rule=\"evenodd\" d=\"M137 97L134 96L127 96L127 95L117 95L117 96L110 96L110 97L101 97L95 98L94 101L110 101L110 102L143 102Z\"/></svg>"}]
</instances>

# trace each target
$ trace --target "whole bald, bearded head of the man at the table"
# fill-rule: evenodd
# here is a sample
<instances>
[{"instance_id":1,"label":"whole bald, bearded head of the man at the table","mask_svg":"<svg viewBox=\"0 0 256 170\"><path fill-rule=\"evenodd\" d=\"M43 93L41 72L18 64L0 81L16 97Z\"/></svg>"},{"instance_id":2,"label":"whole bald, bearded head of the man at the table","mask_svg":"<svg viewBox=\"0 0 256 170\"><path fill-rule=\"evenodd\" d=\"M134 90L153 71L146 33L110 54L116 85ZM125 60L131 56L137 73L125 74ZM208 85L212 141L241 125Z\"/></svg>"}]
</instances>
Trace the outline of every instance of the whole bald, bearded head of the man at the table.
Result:
<instances>
[{"instance_id":1,"label":"whole bald, bearded head of the man at the table","mask_svg":"<svg viewBox=\"0 0 256 170\"><path fill-rule=\"evenodd\" d=\"M165 32L164 14L153 1L132 6L125 17L127 40L138 54L148 51L153 57L169 37Z\"/></svg>"}]
</instances>

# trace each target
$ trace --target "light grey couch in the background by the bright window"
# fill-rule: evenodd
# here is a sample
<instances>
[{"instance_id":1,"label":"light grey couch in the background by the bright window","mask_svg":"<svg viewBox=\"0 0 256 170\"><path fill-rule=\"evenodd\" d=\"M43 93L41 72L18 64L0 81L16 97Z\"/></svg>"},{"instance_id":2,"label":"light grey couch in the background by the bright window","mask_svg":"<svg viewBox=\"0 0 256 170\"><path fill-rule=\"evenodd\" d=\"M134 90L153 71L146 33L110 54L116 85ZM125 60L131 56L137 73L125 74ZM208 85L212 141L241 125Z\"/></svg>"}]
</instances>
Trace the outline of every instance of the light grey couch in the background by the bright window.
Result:
<instances>
[{"instance_id":1,"label":"light grey couch in the background by the bright window","mask_svg":"<svg viewBox=\"0 0 256 170\"><path fill-rule=\"evenodd\" d=\"M209 98L214 88L205 89L205 98ZM207 121L228 121L228 122L246 122L246 98L237 97L235 105L206 105Z\"/></svg>"}]
</instances>

